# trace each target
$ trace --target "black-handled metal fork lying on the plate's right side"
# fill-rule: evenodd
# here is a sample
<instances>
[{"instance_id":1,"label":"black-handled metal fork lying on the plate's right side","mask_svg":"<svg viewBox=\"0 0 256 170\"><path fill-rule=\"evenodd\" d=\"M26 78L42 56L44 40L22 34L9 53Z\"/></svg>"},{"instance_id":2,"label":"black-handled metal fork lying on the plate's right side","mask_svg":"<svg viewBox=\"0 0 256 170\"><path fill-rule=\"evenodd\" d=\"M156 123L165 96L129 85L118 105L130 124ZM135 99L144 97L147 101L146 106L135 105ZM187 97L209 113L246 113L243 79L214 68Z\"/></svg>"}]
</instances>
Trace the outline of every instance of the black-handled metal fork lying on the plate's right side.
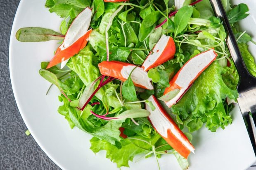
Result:
<instances>
[{"instance_id":1,"label":"black-handled metal fork lying on the plate's right side","mask_svg":"<svg viewBox=\"0 0 256 170\"><path fill-rule=\"evenodd\" d=\"M226 43L239 74L239 84L237 86L239 97L237 101L256 156L256 78L251 76L244 64L221 0L210 0L210 2L216 16L223 21L228 34Z\"/></svg>"}]
</instances>

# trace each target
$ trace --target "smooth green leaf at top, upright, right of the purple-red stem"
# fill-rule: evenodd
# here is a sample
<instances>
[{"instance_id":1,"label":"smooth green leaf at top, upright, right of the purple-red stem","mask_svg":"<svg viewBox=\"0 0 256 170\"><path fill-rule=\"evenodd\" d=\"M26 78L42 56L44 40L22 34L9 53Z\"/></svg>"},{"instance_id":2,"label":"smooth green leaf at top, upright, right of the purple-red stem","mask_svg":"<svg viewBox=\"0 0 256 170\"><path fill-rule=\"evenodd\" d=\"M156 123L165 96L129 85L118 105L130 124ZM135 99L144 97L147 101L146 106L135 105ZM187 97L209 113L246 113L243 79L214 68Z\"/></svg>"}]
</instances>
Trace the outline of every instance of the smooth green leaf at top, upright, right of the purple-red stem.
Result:
<instances>
[{"instance_id":1,"label":"smooth green leaf at top, upright, right of the purple-red stem","mask_svg":"<svg viewBox=\"0 0 256 170\"><path fill-rule=\"evenodd\" d=\"M190 20L193 14L193 7L188 5L182 7L178 10L177 14L174 17L174 35L175 37L185 30L188 25L188 21Z\"/></svg>"}]
</instances>

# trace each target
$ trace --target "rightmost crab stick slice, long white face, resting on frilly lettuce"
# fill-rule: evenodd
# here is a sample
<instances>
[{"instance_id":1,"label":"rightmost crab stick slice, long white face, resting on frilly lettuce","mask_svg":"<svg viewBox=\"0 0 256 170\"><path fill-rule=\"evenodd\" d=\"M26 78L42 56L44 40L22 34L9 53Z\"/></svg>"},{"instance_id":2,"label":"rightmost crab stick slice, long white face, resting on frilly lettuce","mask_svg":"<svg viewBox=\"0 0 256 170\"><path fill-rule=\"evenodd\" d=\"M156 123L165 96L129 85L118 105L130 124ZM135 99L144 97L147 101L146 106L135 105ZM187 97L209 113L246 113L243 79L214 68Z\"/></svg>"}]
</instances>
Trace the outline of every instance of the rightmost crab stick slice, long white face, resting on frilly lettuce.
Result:
<instances>
[{"instance_id":1,"label":"rightmost crab stick slice, long white face, resting on frilly lettuce","mask_svg":"<svg viewBox=\"0 0 256 170\"><path fill-rule=\"evenodd\" d=\"M201 73L216 59L217 55L218 54L213 50L205 51L194 56L181 67L170 81L170 86L164 91L164 96L167 96L178 90L178 94L175 94L172 99L164 100L169 108L185 94L192 83L194 83Z\"/></svg>"}]
</instances>

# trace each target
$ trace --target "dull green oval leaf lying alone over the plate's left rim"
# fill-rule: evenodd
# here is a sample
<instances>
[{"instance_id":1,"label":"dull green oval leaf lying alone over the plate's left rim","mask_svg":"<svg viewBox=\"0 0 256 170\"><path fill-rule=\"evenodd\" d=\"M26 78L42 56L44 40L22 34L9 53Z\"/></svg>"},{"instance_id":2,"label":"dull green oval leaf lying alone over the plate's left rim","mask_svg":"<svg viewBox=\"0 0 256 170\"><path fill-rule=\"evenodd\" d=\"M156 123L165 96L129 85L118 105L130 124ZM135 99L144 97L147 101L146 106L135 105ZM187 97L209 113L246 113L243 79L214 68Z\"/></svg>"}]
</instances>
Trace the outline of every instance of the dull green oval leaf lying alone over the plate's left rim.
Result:
<instances>
[{"instance_id":1,"label":"dull green oval leaf lying alone over the plate's left rim","mask_svg":"<svg viewBox=\"0 0 256 170\"><path fill-rule=\"evenodd\" d=\"M15 37L21 42L40 42L49 40L63 40L64 35L46 28L26 27L19 29Z\"/></svg>"}]
</instances>

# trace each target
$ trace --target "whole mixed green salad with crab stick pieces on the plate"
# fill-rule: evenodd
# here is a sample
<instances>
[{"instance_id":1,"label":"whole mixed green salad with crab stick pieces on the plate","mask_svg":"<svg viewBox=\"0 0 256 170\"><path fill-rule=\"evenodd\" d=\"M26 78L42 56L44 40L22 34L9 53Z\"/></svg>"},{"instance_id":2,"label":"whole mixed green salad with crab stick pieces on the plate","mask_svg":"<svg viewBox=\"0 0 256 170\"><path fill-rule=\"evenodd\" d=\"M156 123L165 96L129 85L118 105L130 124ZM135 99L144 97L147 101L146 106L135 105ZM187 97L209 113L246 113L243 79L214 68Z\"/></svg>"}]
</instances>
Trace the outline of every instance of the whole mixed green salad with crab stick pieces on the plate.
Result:
<instances>
[{"instance_id":1,"label":"whole mixed green salad with crab stick pieces on the plate","mask_svg":"<svg viewBox=\"0 0 256 170\"><path fill-rule=\"evenodd\" d=\"M249 72L256 76L238 21L246 4L222 0ZM192 132L232 123L239 75L226 32L209 0L46 0L60 32L21 28L22 42L59 40L39 74L61 94L58 112L93 137L117 167L173 154L182 170L195 152ZM52 87L50 85L47 93ZM47 94L46 93L46 94Z\"/></svg>"}]
</instances>

